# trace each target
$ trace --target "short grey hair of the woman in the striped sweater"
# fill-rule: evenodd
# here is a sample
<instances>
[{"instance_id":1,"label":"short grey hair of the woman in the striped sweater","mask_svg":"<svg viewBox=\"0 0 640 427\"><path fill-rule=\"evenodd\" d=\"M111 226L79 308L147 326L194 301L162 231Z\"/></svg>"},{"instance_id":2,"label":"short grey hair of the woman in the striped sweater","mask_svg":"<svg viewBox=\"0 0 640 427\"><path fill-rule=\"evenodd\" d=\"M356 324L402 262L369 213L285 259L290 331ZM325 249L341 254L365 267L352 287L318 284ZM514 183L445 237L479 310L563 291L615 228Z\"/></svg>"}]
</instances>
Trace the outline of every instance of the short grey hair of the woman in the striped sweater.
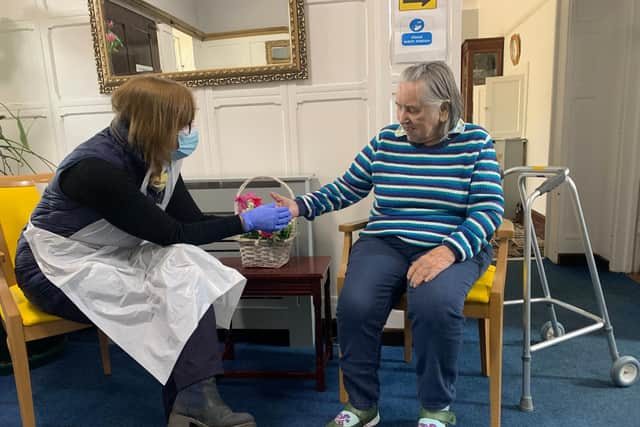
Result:
<instances>
[{"instance_id":1,"label":"short grey hair of the woman in the striped sweater","mask_svg":"<svg viewBox=\"0 0 640 427\"><path fill-rule=\"evenodd\" d=\"M405 82L423 82L423 102L435 102L445 106L449 112L447 130L451 130L458 123L462 117L462 95L451 68L445 62L412 65L404 69L401 79Z\"/></svg>"}]
</instances>

